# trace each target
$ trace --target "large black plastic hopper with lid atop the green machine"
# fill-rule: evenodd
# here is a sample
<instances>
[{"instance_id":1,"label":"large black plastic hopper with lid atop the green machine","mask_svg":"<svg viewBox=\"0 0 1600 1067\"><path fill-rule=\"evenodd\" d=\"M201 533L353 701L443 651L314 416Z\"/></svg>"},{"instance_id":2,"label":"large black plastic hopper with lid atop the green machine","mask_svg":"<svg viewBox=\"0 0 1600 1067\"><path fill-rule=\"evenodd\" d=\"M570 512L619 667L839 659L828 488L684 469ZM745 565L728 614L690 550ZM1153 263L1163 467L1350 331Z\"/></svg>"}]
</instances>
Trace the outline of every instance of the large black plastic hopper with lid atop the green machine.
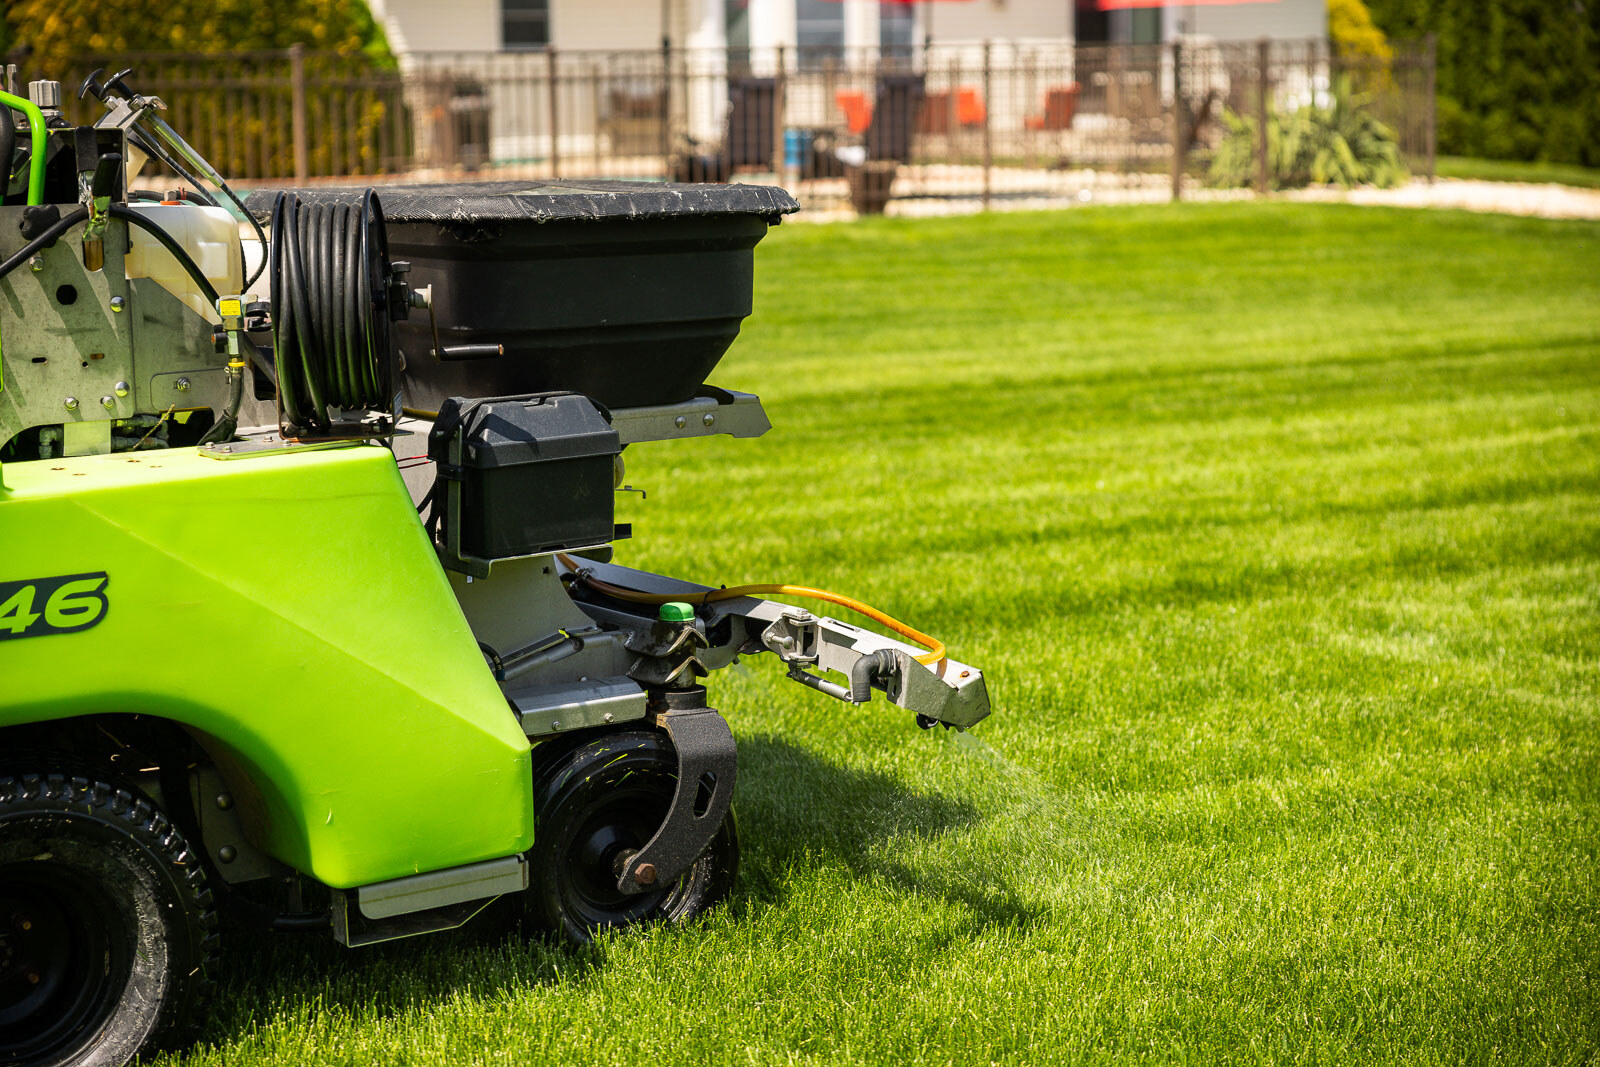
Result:
<instances>
[{"instance_id":1,"label":"large black plastic hopper with lid atop the green machine","mask_svg":"<svg viewBox=\"0 0 1600 1067\"><path fill-rule=\"evenodd\" d=\"M424 410L547 390L611 408L691 398L750 314L757 242L798 208L766 186L637 181L389 186L378 198L390 259L411 262L411 288L432 286L440 347L504 346L440 360L426 310L395 323L405 405Z\"/></svg>"}]
</instances>

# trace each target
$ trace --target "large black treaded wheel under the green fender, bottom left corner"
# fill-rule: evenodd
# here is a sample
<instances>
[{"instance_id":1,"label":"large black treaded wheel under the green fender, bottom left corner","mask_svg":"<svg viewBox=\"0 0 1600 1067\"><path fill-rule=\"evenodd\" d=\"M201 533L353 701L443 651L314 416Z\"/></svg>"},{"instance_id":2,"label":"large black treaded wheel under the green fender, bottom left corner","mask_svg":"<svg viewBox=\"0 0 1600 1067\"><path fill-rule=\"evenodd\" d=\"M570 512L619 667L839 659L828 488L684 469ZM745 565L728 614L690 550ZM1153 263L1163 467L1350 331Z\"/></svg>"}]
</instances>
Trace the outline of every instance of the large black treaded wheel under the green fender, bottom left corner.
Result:
<instances>
[{"instance_id":1,"label":"large black treaded wheel under the green fender, bottom left corner","mask_svg":"<svg viewBox=\"0 0 1600 1067\"><path fill-rule=\"evenodd\" d=\"M149 800L0 777L0 1064L114 1067L184 1041L214 950L205 872Z\"/></svg>"}]
</instances>

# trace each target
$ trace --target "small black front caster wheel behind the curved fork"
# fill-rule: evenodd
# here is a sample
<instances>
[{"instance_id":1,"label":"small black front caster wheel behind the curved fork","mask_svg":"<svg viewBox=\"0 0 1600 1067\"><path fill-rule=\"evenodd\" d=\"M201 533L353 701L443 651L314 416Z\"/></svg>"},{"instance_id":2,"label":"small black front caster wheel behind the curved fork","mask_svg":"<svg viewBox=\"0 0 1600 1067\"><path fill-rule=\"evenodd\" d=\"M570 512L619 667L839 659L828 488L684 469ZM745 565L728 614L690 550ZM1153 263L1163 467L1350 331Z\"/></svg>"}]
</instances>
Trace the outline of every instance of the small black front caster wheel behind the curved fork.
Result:
<instances>
[{"instance_id":1,"label":"small black front caster wheel behind the curved fork","mask_svg":"<svg viewBox=\"0 0 1600 1067\"><path fill-rule=\"evenodd\" d=\"M677 782L677 752L653 729L605 734L536 760L528 913L538 925L586 944L610 926L675 923L726 899L739 872L731 809L677 883L638 894L616 888L618 856L650 841Z\"/></svg>"}]
</instances>

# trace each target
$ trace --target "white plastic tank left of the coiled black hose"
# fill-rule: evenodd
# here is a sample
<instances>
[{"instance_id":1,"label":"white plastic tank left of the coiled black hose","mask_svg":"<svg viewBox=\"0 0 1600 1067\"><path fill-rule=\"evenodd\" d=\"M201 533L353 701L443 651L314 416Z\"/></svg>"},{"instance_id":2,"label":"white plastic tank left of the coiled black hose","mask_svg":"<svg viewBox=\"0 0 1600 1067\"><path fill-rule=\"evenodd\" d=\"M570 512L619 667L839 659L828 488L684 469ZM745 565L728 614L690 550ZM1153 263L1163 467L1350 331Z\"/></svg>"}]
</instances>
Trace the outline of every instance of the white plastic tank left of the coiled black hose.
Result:
<instances>
[{"instance_id":1,"label":"white plastic tank left of the coiled black hose","mask_svg":"<svg viewBox=\"0 0 1600 1067\"><path fill-rule=\"evenodd\" d=\"M238 219L224 208L203 203L152 203L128 205L139 214L173 235L189 258L195 261L218 296L232 296L245 288L245 253L238 240ZM189 272L178 266L173 253L138 226L128 227L128 258L123 269L130 278L154 278L168 293L195 309L211 322L221 322L205 293L195 286Z\"/></svg>"}]
</instances>

